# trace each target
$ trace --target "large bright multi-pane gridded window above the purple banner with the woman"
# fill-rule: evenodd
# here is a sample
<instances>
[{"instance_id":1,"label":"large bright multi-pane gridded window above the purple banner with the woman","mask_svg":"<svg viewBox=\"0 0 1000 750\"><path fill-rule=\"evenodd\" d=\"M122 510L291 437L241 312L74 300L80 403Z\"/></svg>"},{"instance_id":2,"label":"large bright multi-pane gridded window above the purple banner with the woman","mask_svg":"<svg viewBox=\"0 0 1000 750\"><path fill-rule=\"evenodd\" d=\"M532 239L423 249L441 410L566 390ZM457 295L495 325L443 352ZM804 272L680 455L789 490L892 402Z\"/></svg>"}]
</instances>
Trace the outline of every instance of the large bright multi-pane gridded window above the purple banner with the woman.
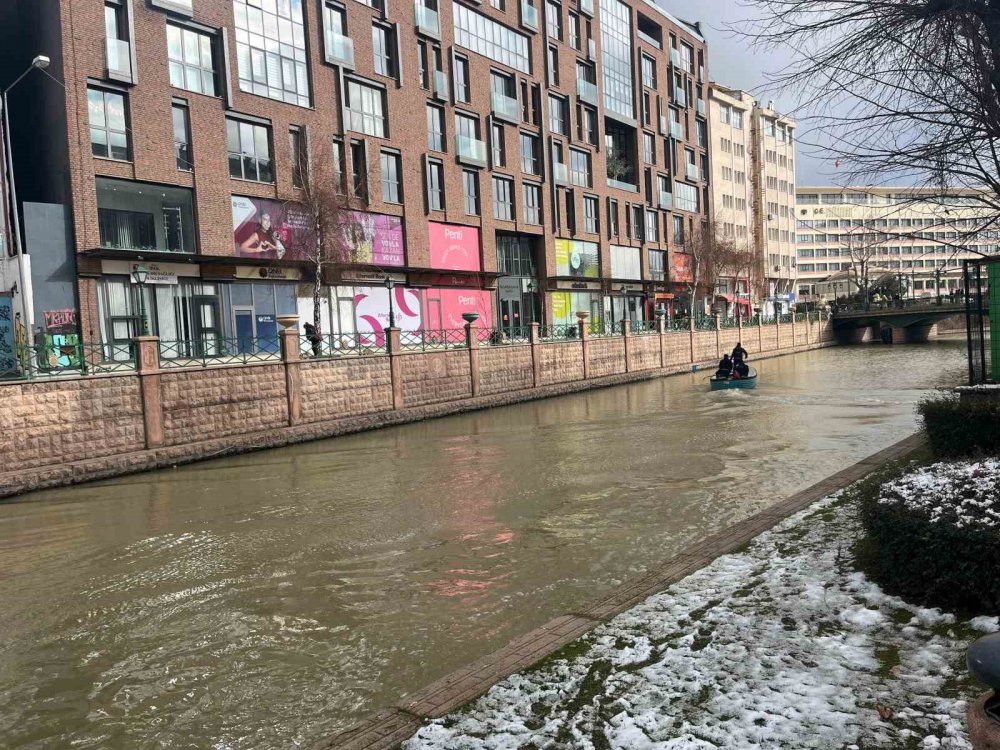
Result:
<instances>
[{"instance_id":1,"label":"large bright multi-pane gridded window above the purple banner with the woman","mask_svg":"<svg viewBox=\"0 0 1000 750\"><path fill-rule=\"evenodd\" d=\"M233 0L240 91L310 106L301 2Z\"/></svg>"}]
</instances>

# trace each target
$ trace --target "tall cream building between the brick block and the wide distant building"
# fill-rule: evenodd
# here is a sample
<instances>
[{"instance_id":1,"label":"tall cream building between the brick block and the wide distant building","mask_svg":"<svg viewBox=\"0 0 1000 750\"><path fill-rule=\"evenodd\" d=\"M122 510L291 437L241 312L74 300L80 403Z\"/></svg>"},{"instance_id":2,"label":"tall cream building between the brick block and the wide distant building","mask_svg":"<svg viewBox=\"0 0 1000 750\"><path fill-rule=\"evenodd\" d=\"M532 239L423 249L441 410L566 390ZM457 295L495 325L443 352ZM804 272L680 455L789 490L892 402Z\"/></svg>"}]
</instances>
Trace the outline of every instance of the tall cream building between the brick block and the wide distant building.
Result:
<instances>
[{"instance_id":1,"label":"tall cream building between the brick block and the wide distant building","mask_svg":"<svg viewBox=\"0 0 1000 750\"><path fill-rule=\"evenodd\" d=\"M795 122L772 103L712 82L712 195L716 230L758 258L746 279L723 279L719 302L785 310L795 299Z\"/></svg>"}]
</instances>

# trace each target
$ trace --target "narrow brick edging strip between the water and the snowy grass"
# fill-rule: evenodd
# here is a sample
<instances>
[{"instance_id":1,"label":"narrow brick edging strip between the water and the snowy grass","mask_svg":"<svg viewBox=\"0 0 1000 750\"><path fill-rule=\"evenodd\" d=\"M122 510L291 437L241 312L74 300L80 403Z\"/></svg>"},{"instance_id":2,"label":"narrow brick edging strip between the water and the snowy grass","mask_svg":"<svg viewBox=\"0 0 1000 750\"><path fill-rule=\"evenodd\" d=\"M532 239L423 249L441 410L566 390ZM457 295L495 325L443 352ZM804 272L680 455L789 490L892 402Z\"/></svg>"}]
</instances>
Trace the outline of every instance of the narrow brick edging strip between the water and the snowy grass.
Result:
<instances>
[{"instance_id":1,"label":"narrow brick edging strip between the water and the snowy grass","mask_svg":"<svg viewBox=\"0 0 1000 750\"><path fill-rule=\"evenodd\" d=\"M314 750L396 750L402 742L420 730L425 722L442 720L486 693L498 682L552 657L581 636L601 627L602 623L641 604L649 597L666 591L673 584L713 564L717 558L739 550L790 516L835 495L886 463L907 460L915 452L922 450L923 446L924 438L921 434L911 435L790 498L685 548L645 575L626 582L590 604L550 620L504 648L408 695L396 706L380 712L369 721L321 741L315 745ZM489 696L483 700L488 702ZM582 709L583 706L579 708ZM444 728L440 721L435 726ZM521 744L511 746L520 747Z\"/></svg>"}]
</instances>

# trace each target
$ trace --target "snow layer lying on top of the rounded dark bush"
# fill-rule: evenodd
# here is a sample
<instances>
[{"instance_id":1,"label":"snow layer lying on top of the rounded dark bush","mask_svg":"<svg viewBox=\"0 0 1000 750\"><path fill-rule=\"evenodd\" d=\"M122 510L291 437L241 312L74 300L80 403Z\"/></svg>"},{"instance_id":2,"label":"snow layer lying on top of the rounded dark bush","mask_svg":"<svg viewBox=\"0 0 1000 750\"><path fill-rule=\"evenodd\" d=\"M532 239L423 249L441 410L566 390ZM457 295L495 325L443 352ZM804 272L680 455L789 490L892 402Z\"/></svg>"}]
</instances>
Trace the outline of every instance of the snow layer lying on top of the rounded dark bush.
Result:
<instances>
[{"instance_id":1,"label":"snow layer lying on top of the rounded dark bush","mask_svg":"<svg viewBox=\"0 0 1000 750\"><path fill-rule=\"evenodd\" d=\"M887 482L879 502L919 511L931 523L1000 528L1000 459L942 462Z\"/></svg>"}]
</instances>

